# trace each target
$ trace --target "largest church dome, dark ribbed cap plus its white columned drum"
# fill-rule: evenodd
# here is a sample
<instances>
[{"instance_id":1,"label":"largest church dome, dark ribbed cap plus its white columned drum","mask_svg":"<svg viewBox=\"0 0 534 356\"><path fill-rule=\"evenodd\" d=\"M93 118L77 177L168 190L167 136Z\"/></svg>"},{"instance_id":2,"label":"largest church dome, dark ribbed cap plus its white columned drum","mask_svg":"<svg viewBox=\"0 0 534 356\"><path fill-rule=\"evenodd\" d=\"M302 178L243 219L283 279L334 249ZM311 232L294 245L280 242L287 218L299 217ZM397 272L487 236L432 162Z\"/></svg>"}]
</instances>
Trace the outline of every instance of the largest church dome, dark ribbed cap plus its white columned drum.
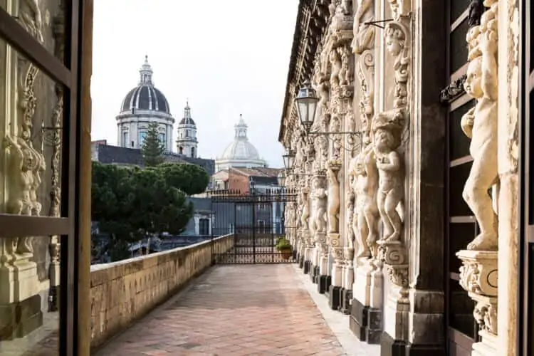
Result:
<instances>
[{"instance_id":1,"label":"largest church dome, dark ribbed cap plus its white columned drum","mask_svg":"<svg viewBox=\"0 0 534 356\"><path fill-rule=\"evenodd\" d=\"M145 56L145 63L139 71L140 81L122 100L117 120L117 142L120 147L142 147L150 123L157 123L159 140L165 150L172 151L172 130L174 117L165 95L154 86L153 70Z\"/></svg>"}]
</instances>

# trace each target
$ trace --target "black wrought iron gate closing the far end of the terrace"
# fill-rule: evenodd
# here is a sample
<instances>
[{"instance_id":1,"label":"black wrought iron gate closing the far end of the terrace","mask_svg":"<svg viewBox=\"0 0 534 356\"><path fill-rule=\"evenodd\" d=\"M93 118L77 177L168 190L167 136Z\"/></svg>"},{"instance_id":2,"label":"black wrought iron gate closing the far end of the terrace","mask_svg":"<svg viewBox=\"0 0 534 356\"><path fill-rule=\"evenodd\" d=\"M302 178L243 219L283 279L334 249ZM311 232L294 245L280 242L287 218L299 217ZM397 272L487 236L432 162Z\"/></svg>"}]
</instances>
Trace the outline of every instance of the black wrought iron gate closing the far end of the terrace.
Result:
<instances>
[{"instance_id":1,"label":"black wrought iron gate closing the far end of the terrace","mask_svg":"<svg viewBox=\"0 0 534 356\"><path fill-rule=\"evenodd\" d=\"M233 234L233 247L226 253L213 253L217 264L293 263L293 253L278 251L286 239L284 211L296 195L288 189L266 189L241 194L236 191L211 192L212 239ZM294 228L289 228L294 229ZM293 246L294 247L294 246Z\"/></svg>"}]
</instances>

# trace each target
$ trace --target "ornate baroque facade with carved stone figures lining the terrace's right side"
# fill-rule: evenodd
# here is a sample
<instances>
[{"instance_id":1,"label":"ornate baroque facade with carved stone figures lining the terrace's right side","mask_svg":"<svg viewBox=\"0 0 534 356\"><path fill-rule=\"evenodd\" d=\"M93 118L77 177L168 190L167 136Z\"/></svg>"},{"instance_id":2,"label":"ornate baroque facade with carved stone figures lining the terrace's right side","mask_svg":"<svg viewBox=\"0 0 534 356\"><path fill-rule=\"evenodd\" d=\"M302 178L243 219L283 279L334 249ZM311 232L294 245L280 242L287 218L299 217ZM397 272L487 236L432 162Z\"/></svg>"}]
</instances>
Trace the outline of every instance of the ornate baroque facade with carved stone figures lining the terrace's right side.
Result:
<instances>
[{"instance_id":1,"label":"ornate baroque facade with carved stone figures lining the terrace's right side","mask_svg":"<svg viewBox=\"0 0 534 356\"><path fill-rule=\"evenodd\" d=\"M506 0L300 1L285 219L303 272L382 355L517 355L519 14Z\"/></svg>"}]
</instances>

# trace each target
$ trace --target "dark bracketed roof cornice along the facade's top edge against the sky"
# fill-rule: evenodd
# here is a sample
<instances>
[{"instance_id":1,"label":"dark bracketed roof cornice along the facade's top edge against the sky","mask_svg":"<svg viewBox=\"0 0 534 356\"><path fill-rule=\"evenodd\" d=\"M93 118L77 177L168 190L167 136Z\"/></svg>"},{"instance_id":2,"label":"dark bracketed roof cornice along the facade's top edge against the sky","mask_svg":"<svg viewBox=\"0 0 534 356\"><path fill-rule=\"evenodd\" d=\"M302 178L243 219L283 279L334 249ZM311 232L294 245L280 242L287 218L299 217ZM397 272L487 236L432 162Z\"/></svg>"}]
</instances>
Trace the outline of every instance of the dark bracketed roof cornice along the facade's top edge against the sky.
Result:
<instances>
[{"instance_id":1,"label":"dark bracketed roof cornice along the facade's top edge against the sky","mask_svg":"<svg viewBox=\"0 0 534 356\"><path fill-rule=\"evenodd\" d=\"M292 117L293 100L300 85L311 78L318 46L328 28L330 0L300 0L293 47L289 60L286 95L283 101L278 141L283 142L288 122Z\"/></svg>"}]
</instances>

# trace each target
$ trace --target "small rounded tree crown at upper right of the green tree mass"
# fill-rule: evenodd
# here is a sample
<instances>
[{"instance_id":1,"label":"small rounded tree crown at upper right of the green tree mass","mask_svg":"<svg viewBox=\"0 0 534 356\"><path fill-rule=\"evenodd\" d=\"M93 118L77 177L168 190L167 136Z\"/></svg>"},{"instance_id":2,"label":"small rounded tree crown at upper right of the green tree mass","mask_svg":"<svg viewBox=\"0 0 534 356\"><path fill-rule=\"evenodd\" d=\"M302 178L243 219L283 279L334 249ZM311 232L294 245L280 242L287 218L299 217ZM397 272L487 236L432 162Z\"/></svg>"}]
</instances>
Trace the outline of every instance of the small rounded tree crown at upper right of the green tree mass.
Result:
<instances>
[{"instance_id":1,"label":"small rounded tree crown at upper right of the green tree mass","mask_svg":"<svg viewBox=\"0 0 534 356\"><path fill-rule=\"evenodd\" d=\"M208 172L195 164L164 163L158 168L162 169L167 184L187 195L200 194L208 187Z\"/></svg>"}]
</instances>

